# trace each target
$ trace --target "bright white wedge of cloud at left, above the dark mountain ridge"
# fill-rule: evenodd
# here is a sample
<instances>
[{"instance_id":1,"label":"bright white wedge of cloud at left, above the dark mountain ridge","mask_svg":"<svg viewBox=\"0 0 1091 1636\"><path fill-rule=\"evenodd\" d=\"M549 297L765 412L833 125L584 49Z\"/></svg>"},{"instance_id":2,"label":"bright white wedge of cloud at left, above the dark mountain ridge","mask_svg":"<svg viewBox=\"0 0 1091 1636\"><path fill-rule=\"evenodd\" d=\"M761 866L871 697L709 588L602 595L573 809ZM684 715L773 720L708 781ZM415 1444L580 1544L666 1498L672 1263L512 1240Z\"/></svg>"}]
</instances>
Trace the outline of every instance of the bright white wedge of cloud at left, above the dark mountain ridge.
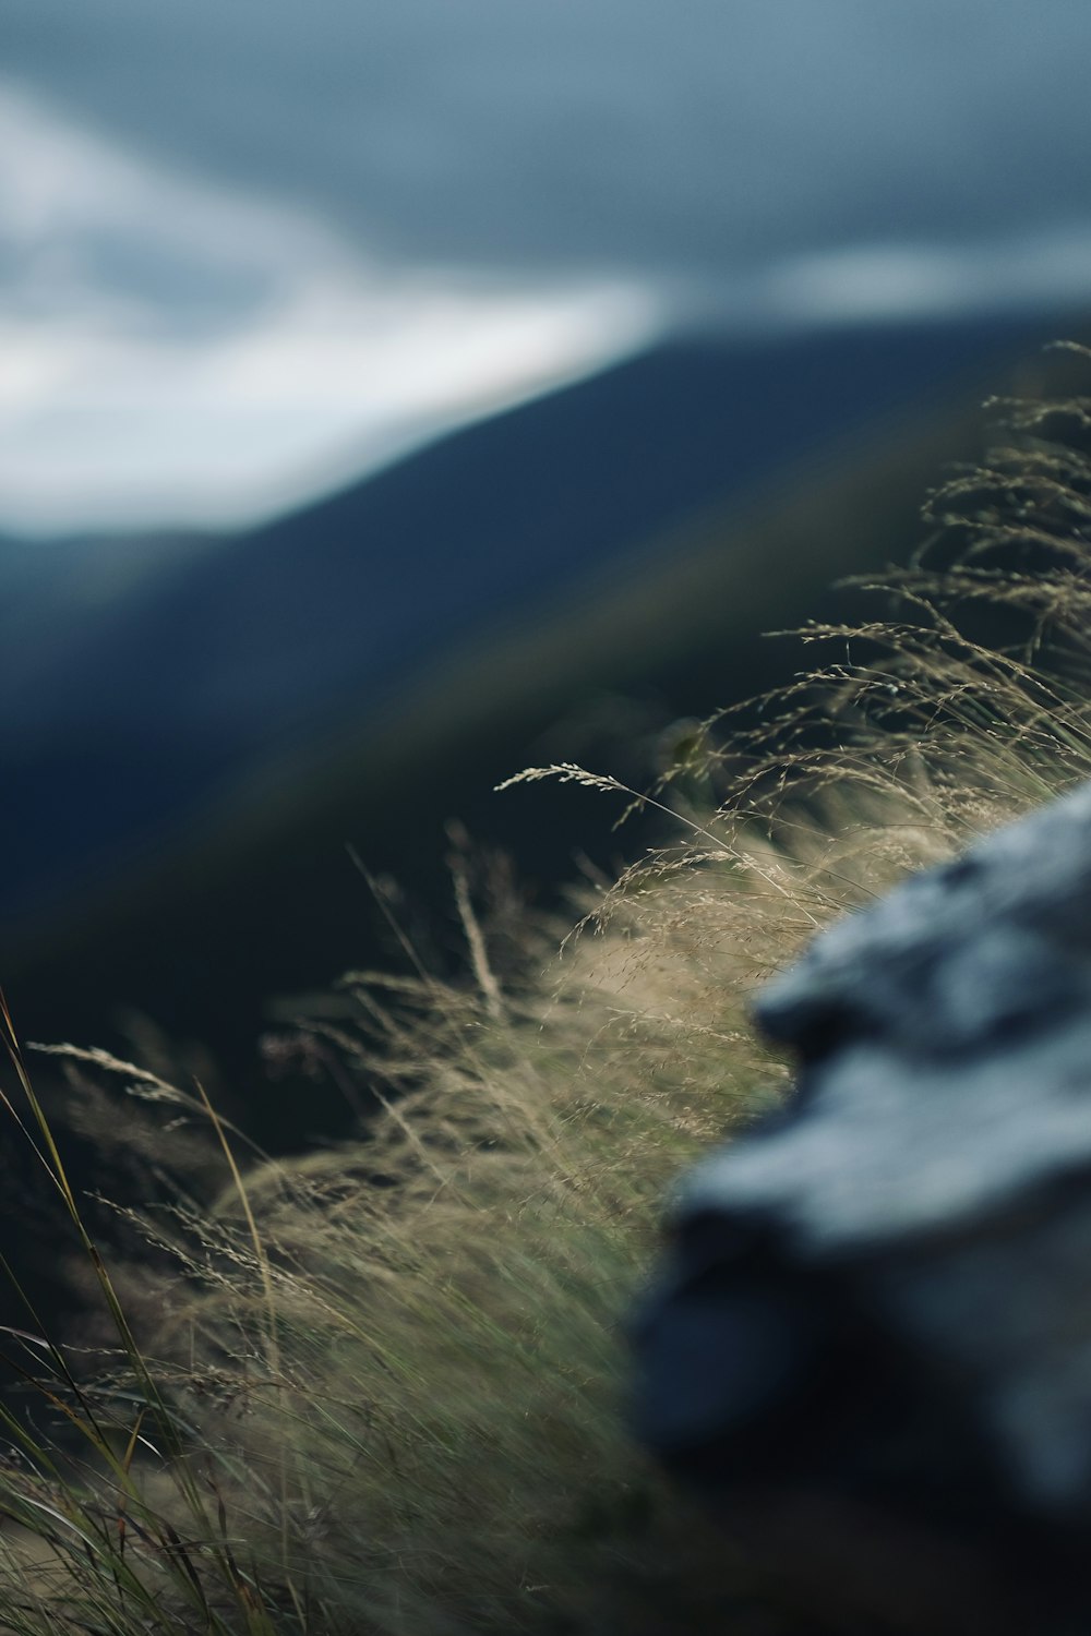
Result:
<instances>
[{"instance_id":1,"label":"bright white wedge of cloud at left, above the dark mountain ridge","mask_svg":"<svg viewBox=\"0 0 1091 1636\"><path fill-rule=\"evenodd\" d=\"M366 265L0 90L0 527L245 520L661 317L636 285Z\"/></svg>"}]
</instances>

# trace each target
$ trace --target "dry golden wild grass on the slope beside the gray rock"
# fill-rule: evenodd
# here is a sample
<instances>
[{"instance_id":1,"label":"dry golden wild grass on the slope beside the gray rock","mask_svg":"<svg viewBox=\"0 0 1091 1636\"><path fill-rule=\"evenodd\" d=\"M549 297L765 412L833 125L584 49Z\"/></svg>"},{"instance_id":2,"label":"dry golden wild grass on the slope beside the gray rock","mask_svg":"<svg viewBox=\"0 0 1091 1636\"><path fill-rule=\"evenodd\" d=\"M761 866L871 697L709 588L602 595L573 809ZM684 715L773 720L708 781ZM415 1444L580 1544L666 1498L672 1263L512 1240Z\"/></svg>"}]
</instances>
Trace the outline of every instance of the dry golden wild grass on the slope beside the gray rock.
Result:
<instances>
[{"instance_id":1,"label":"dry golden wild grass on the slope beside the gray rock","mask_svg":"<svg viewBox=\"0 0 1091 1636\"><path fill-rule=\"evenodd\" d=\"M200 1086L61 1047L83 1124L157 1178L108 1266L5 1016L8 1114L100 1324L61 1345L25 1294L0 1337L0 1631L855 1628L633 1448L625 1317L672 1178L787 1085L754 987L1091 772L1091 401L1008 412L918 558L801 633L829 661L684 736L659 789L522 775L661 808L574 933L460 862L465 983L348 973L299 1021L283 1049L381 1108L358 1140L272 1162Z\"/></svg>"}]
</instances>

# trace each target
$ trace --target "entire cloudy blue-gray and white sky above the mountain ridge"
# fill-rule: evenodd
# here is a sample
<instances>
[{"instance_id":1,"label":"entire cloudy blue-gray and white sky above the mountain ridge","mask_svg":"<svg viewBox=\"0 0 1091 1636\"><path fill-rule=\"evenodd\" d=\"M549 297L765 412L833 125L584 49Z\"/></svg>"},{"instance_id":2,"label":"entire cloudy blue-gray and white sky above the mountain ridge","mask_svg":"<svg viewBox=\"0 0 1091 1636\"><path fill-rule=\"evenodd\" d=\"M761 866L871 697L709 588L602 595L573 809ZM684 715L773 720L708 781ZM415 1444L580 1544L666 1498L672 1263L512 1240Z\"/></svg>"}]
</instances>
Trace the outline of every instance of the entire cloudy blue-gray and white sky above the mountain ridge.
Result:
<instances>
[{"instance_id":1,"label":"entire cloudy blue-gray and white sky above the mountain ridge","mask_svg":"<svg viewBox=\"0 0 1091 1636\"><path fill-rule=\"evenodd\" d=\"M1091 306L1086 0L5 0L0 530L247 522L680 324Z\"/></svg>"}]
</instances>

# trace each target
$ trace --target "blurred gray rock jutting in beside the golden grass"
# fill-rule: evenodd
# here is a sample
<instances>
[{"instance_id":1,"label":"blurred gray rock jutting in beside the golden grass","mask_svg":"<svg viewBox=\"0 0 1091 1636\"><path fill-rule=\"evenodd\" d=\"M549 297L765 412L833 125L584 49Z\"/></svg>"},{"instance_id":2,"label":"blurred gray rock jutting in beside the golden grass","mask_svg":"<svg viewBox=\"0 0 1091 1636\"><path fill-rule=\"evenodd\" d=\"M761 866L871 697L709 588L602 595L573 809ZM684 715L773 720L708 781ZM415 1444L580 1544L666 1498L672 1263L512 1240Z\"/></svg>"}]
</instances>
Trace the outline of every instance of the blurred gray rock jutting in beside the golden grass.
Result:
<instances>
[{"instance_id":1,"label":"blurred gray rock jutting in beside the golden grass","mask_svg":"<svg viewBox=\"0 0 1091 1636\"><path fill-rule=\"evenodd\" d=\"M823 933L756 1009L797 1093L677 1189L641 1436L736 1518L854 1517L842 1589L882 1557L905 1611L932 1575L875 1628L1086 1629L1091 785Z\"/></svg>"}]
</instances>

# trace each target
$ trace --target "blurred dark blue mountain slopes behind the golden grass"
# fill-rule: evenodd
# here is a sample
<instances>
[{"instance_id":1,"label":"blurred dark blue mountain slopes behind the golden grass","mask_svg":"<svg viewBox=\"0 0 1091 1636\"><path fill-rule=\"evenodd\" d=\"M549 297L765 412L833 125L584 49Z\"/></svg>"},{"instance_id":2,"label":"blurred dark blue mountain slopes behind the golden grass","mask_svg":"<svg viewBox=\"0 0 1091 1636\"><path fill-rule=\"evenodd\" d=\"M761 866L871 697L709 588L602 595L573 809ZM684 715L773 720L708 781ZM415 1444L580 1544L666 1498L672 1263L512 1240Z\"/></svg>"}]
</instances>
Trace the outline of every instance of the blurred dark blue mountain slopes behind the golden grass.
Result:
<instances>
[{"instance_id":1,"label":"blurred dark blue mountain slopes behind the golden grass","mask_svg":"<svg viewBox=\"0 0 1091 1636\"><path fill-rule=\"evenodd\" d=\"M644 699L636 736L748 692L756 633L890 555L872 524L905 528L1039 339L679 340L250 532L0 543L25 1027L90 1037L124 1003L245 1078L263 998L366 952L347 839L424 879L458 813L566 874L595 820L496 779L572 754L604 692Z\"/></svg>"}]
</instances>

